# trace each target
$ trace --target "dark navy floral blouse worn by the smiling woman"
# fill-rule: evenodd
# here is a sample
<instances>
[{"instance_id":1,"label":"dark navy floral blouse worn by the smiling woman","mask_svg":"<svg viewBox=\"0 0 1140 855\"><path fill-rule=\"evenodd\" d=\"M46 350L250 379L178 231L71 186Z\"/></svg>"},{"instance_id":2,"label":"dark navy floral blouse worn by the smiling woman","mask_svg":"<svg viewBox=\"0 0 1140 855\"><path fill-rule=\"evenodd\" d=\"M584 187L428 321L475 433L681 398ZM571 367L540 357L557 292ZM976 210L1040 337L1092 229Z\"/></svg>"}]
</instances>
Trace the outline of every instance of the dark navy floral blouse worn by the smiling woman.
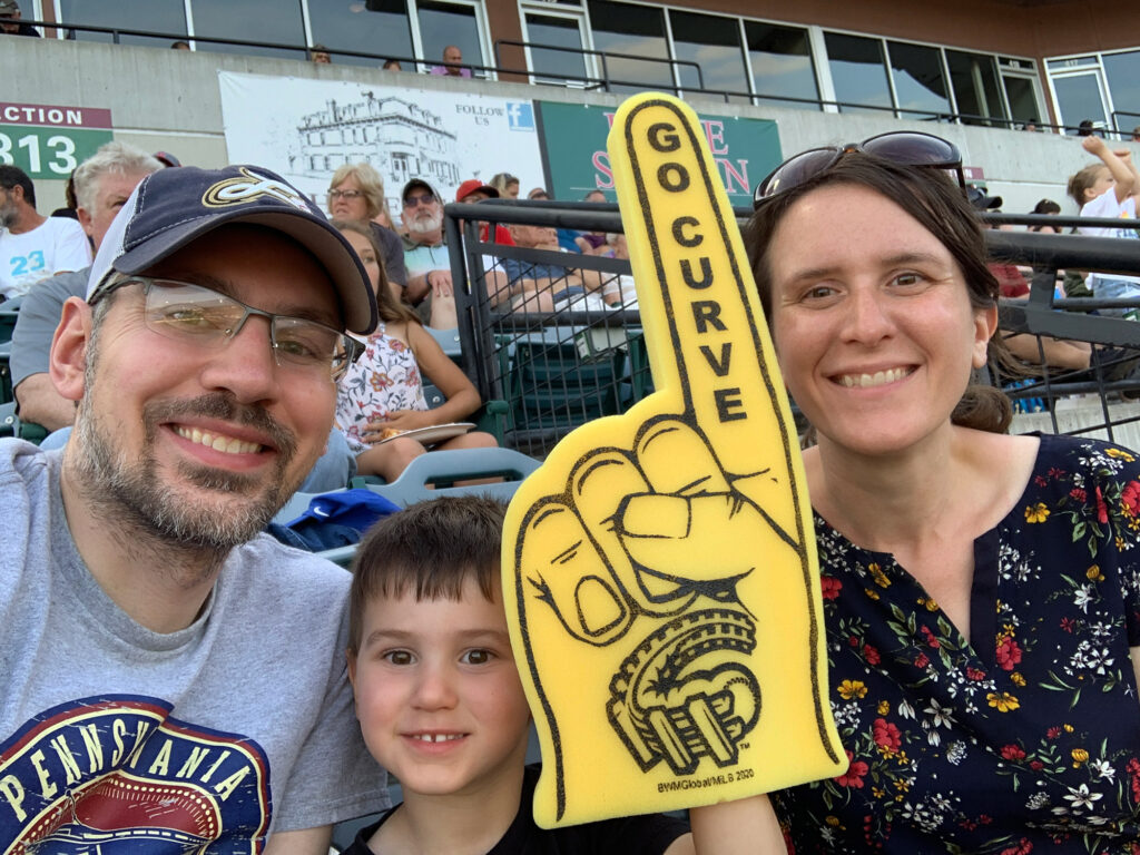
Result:
<instances>
[{"instance_id":1,"label":"dark navy floral blouse worn by the smiling woman","mask_svg":"<svg viewBox=\"0 0 1140 855\"><path fill-rule=\"evenodd\" d=\"M1041 437L975 542L969 642L889 554L815 526L850 764L774 793L789 850L1140 855L1137 455Z\"/></svg>"}]
</instances>

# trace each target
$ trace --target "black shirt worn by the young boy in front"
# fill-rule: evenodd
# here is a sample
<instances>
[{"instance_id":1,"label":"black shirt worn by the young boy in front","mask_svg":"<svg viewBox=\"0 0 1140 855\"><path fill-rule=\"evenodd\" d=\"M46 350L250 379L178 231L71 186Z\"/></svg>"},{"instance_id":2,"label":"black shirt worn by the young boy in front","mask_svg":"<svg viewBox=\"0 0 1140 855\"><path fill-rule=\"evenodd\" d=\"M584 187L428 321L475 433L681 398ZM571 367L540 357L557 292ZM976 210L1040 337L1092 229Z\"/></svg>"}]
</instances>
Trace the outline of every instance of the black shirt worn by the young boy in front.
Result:
<instances>
[{"instance_id":1,"label":"black shirt worn by the young boy in front","mask_svg":"<svg viewBox=\"0 0 1140 855\"><path fill-rule=\"evenodd\" d=\"M660 855L674 840L689 832L687 823L663 814L602 820L549 831L540 829L535 824L530 809L535 800L538 769L537 765L527 766L519 813L511 828L487 855ZM374 855L368 848L368 838L398 809L399 805L385 813L378 822L363 829L341 855Z\"/></svg>"}]
</instances>

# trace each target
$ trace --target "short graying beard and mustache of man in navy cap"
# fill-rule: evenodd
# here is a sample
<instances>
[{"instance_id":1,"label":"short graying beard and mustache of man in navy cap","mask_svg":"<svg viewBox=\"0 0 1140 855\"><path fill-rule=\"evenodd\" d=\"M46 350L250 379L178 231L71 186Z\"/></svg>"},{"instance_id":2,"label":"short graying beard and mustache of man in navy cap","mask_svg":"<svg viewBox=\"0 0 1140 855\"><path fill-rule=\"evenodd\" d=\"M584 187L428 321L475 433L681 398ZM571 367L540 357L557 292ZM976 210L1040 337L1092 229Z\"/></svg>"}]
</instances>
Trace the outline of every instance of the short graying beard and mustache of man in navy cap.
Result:
<instances>
[{"instance_id":1,"label":"short graying beard and mustache of man in navy cap","mask_svg":"<svg viewBox=\"0 0 1140 855\"><path fill-rule=\"evenodd\" d=\"M128 536L133 529L149 534L160 545L225 554L261 531L300 486L300 478L294 477L296 483L285 480L285 470L296 455L293 434L263 409L241 405L222 392L146 405L142 448L130 458L112 441L114 425L103 424L95 414L95 361L88 360L83 401L75 420L80 454L71 461L93 510L104 521L123 527ZM277 453L275 471L249 475L179 462L176 472L161 474L154 456L158 425L186 416L225 420L270 437ZM177 488L171 483L176 477L189 487ZM195 503L195 490L205 499L213 498L210 494L236 494L246 500Z\"/></svg>"}]
</instances>

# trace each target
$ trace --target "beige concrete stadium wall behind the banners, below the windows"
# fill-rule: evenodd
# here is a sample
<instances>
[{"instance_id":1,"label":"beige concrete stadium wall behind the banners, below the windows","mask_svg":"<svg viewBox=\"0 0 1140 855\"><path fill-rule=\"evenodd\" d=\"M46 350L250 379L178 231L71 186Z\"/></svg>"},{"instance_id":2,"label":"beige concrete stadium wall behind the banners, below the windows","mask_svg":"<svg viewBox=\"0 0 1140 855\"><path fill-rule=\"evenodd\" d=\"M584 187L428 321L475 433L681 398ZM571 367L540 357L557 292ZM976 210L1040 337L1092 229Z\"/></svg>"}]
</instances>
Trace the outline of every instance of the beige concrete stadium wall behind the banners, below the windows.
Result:
<instances>
[{"instance_id":1,"label":"beige concrete stadium wall behind the banners, below the windows","mask_svg":"<svg viewBox=\"0 0 1140 855\"><path fill-rule=\"evenodd\" d=\"M604 106L617 106L621 100L616 95L583 93L556 87L451 81L358 66L311 65L205 51L10 36L0 38L0 80L5 81L5 103L108 108L115 138L149 152L170 150L182 163L201 166L219 166L228 161L218 88L219 71L348 80L377 85L401 81L409 91L449 89ZM699 97L691 98L690 104L698 112L775 120L785 155L812 146L861 140L874 133L905 128L938 133L959 145L967 165L984 171L991 194L1003 196L1004 210L1009 212L1028 211L1042 197L1060 202L1066 212L1074 211L1064 195L1065 181L1090 162L1077 140L1054 135L906 122L870 114L839 115L754 107ZM1140 146L1132 146L1140 158ZM38 181L38 193L41 211L63 204L62 181Z\"/></svg>"}]
</instances>

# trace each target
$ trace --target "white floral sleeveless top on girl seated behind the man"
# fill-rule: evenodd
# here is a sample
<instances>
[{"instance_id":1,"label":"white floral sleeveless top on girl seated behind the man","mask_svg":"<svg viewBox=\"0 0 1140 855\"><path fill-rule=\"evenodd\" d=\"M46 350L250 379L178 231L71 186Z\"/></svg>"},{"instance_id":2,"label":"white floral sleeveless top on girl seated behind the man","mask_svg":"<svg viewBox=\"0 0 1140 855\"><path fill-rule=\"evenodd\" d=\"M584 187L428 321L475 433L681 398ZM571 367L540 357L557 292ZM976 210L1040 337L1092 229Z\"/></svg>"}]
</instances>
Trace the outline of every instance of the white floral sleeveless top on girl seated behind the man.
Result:
<instances>
[{"instance_id":1,"label":"white floral sleeveless top on girl seated behind the man","mask_svg":"<svg viewBox=\"0 0 1140 855\"><path fill-rule=\"evenodd\" d=\"M415 353L385 329L381 323L368 336L337 385L336 426L353 454L372 447L363 439L368 422L383 422L398 409L427 409Z\"/></svg>"}]
</instances>

